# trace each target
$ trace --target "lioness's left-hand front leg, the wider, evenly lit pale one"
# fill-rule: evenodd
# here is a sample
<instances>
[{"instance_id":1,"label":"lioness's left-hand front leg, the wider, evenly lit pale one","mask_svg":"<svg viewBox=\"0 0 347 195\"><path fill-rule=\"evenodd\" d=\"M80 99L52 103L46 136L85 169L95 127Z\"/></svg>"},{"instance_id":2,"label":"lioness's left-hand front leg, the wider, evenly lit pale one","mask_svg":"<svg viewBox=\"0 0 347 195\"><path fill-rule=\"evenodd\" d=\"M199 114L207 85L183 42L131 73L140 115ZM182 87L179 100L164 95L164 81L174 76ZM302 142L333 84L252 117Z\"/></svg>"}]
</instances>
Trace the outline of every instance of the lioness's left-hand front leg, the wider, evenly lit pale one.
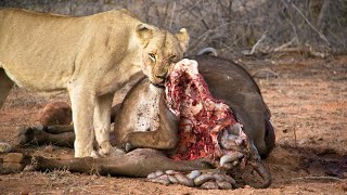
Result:
<instances>
[{"instance_id":1,"label":"lioness's left-hand front leg, the wider, evenly lit pale one","mask_svg":"<svg viewBox=\"0 0 347 195\"><path fill-rule=\"evenodd\" d=\"M95 93L79 86L68 89L75 129L75 157L95 156L93 151L93 114Z\"/></svg>"}]
</instances>

